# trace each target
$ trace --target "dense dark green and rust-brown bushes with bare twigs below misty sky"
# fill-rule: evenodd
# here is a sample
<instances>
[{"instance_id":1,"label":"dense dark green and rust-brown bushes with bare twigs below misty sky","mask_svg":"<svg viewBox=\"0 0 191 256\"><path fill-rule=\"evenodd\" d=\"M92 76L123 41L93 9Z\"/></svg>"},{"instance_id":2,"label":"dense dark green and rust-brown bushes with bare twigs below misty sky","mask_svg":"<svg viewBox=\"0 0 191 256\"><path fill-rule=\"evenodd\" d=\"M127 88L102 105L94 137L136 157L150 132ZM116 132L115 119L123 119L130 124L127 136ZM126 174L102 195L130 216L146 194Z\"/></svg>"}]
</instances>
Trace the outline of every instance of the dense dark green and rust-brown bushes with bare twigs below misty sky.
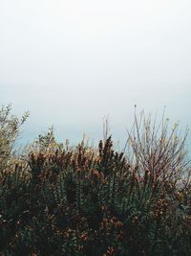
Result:
<instances>
[{"instance_id":1,"label":"dense dark green and rust-brown bushes with bare twigs below misty sky","mask_svg":"<svg viewBox=\"0 0 191 256\"><path fill-rule=\"evenodd\" d=\"M51 128L15 157L26 116L1 109L0 255L191 255L190 165L177 126L135 116L127 154L111 136L97 149L58 144Z\"/></svg>"}]
</instances>

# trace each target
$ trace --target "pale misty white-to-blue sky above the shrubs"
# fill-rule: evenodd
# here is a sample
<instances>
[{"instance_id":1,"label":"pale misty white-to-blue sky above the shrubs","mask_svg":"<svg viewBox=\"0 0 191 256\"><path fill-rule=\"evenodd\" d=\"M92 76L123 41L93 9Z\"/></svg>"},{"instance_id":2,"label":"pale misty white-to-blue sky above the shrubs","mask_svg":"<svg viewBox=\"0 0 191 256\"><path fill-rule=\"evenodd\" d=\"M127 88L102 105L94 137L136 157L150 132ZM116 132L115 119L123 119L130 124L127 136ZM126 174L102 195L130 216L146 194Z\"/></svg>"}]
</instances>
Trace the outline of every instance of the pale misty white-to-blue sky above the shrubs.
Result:
<instances>
[{"instance_id":1,"label":"pale misty white-to-blue sky above the shrubs","mask_svg":"<svg viewBox=\"0 0 191 256\"><path fill-rule=\"evenodd\" d=\"M1 105L30 111L32 140L124 141L138 111L191 127L190 0L1 0ZM189 136L191 141L191 136ZM190 144L191 145L191 144Z\"/></svg>"}]
</instances>

